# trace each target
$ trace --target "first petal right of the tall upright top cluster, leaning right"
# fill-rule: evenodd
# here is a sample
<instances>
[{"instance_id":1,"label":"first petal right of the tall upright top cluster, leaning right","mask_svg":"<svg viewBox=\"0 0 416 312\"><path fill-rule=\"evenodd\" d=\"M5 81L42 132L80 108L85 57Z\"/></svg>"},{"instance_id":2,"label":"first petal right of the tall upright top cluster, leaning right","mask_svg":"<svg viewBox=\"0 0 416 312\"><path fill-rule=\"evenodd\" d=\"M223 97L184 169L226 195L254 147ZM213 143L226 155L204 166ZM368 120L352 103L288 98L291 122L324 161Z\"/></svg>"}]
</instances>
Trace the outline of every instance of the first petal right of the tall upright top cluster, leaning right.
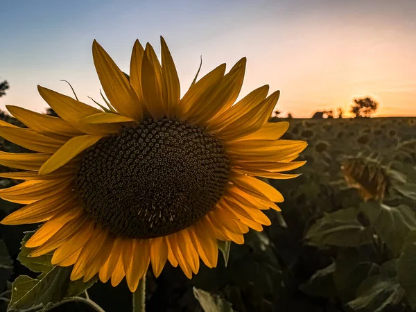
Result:
<instances>
[{"instance_id":1,"label":"first petal right of the tall upright top cluster, leaning right","mask_svg":"<svg viewBox=\"0 0 416 312\"><path fill-rule=\"evenodd\" d=\"M220 85L223 80L225 72L225 64L220 64L213 71L210 71L198 80L195 85L191 85L188 92L180 100L179 110L177 113L180 119L187 120L192 116L191 110L202 112L207 107L205 106L207 99L211 96L216 87Z\"/></svg>"}]
</instances>

